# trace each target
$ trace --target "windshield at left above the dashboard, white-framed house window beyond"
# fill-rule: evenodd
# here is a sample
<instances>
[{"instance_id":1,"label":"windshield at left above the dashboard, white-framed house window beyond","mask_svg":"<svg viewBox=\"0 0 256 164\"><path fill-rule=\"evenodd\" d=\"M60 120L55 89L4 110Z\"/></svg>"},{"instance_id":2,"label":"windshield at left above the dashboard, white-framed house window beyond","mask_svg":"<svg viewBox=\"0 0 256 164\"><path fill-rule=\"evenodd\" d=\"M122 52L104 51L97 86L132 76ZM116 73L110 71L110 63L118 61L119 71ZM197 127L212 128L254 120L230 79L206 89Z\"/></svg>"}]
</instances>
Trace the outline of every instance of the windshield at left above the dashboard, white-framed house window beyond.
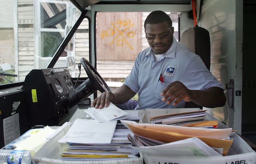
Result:
<instances>
[{"instance_id":1,"label":"windshield at left above the dashboard, white-framed house window beyond","mask_svg":"<svg viewBox=\"0 0 256 164\"><path fill-rule=\"evenodd\" d=\"M47 68L81 14L68 0L6 0L0 4L0 85ZM72 41L55 67L74 65Z\"/></svg>"}]
</instances>

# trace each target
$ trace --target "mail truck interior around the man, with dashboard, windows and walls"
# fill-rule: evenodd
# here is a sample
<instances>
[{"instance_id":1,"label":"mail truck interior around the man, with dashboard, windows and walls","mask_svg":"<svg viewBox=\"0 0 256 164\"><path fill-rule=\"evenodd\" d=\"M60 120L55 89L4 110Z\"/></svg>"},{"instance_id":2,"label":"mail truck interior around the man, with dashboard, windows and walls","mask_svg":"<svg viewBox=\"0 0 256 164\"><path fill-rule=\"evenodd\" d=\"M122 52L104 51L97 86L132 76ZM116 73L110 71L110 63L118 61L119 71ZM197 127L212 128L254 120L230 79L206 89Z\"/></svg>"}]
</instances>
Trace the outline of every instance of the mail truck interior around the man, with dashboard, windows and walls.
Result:
<instances>
[{"instance_id":1,"label":"mail truck interior around the man, with dashboard, windows and walls","mask_svg":"<svg viewBox=\"0 0 256 164\"><path fill-rule=\"evenodd\" d=\"M149 47L144 21L154 10L171 17L178 42L193 42L182 36L195 25L209 32L204 56L227 101L203 109L256 144L255 8L253 0L0 0L0 146L35 125L79 118L121 86Z\"/></svg>"}]
</instances>

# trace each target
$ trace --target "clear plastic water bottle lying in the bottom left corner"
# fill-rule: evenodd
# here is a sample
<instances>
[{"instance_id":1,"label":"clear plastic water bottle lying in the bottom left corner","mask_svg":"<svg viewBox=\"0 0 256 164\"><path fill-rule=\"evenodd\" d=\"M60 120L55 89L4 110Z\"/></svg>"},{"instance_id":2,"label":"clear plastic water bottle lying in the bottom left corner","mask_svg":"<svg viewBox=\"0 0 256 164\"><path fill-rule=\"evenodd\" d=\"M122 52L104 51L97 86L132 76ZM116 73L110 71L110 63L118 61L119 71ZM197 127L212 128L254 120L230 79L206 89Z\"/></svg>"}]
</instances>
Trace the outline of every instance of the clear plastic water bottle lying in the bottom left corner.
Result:
<instances>
[{"instance_id":1,"label":"clear plastic water bottle lying in the bottom left corner","mask_svg":"<svg viewBox=\"0 0 256 164\"><path fill-rule=\"evenodd\" d=\"M30 151L0 149L0 164L31 164Z\"/></svg>"}]
</instances>

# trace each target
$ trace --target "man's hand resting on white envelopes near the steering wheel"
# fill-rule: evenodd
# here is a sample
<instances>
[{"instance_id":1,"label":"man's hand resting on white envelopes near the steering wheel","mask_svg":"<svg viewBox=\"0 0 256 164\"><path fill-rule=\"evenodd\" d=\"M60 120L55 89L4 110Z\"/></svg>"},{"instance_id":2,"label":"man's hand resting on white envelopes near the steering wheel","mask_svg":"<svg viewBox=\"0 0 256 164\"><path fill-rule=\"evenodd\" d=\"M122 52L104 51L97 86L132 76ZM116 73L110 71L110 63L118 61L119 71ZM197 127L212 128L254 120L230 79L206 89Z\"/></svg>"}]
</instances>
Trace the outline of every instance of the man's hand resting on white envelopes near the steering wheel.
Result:
<instances>
[{"instance_id":1,"label":"man's hand resting on white envelopes near the steering wheel","mask_svg":"<svg viewBox=\"0 0 256 164\"><path fill-rule=\"evenodd\" d=\"M93 100L91 107L103 108L108 107L110 102L115 104L116 96L112 92L103 92L99 97Z\"/></svg>"}]
</instances>

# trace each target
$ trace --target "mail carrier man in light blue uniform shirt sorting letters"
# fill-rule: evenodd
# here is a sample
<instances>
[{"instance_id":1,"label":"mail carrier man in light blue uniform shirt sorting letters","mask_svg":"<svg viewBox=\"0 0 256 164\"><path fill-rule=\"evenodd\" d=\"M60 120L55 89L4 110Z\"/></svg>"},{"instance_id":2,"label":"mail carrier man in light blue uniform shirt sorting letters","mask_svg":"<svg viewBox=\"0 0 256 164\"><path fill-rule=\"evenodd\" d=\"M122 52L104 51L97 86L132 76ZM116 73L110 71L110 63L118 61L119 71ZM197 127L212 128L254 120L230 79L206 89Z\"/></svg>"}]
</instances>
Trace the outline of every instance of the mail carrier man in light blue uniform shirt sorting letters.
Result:
<instances>
[{"instance_id":1,"label":"mail carrier man in light blue uniform shirt sorting letters","mask_svg":"<svg viewBox=\"0 0 256 164\"><path fill-rule=\"evenodd\" d=\"M92 106L124 104L136 93L139 109L182 108L186 102L204 107L225 105L223 85L198 55L175 40L172 20L165 12L151 12L144 27L150 47L138 54L124 84L113 93L102 93Z\"/></svg>"}]
</instances>

